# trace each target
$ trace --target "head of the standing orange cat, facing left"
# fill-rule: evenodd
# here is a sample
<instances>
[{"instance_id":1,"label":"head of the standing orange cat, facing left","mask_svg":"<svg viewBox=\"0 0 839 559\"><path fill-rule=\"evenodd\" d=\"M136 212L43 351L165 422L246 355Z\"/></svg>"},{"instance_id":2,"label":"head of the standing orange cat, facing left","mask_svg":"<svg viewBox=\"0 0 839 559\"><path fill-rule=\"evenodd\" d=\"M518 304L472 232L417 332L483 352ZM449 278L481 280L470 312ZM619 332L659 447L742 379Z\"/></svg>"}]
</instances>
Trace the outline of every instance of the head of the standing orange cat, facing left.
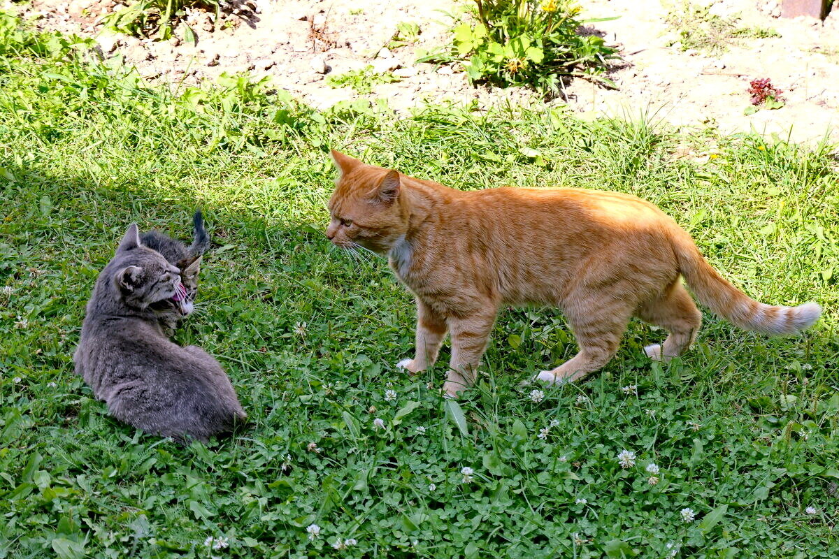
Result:
<instances>
[{"instance_id":1,"label":"head of the standing orange cat, facing left","mask_svg":"<svg viewBox=\"0 0 839 559\"><path fill-rule=\"evenodd\" d=\"M332 150L341 176L329 200L326 236L336 246L361 245L386 253L408 231L408 211L398 172L365 165Z\"/></svg>"}]
</instances>

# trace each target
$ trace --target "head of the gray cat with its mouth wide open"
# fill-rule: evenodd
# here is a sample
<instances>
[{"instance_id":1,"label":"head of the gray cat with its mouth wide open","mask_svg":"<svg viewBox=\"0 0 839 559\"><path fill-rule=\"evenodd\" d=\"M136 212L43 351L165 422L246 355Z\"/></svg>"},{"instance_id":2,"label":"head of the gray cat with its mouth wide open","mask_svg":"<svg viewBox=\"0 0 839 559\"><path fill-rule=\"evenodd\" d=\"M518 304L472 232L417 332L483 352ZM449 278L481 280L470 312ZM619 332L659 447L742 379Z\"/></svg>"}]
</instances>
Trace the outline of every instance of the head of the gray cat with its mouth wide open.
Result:
<instances>
[{"instance_id":1,"label":"head of the gray cat with its mouth wide open","mask_svg":"<svg viewBox=\"0 0 839 559\"><path fill-rule=\"evenodd\" d=\"M113 286L130 308L145 310L161 302L184 308L187 303L180 268L166 261L158 251L143 246L136 224L128 227L109 267L113 270Z\"/></svg>"}]
</instances>

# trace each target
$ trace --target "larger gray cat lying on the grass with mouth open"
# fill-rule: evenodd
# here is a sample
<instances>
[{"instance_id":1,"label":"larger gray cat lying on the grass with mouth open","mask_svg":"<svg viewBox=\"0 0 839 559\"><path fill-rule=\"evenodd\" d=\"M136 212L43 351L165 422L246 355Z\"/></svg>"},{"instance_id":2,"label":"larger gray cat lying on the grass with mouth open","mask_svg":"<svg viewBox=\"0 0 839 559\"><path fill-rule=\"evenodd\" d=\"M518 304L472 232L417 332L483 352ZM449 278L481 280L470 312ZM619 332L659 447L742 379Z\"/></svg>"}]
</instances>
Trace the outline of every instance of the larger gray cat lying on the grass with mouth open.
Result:
<instances>
[{"instance_id":1,"label":"larger gray cat lying on the grass with mouth open","mask_svg":"<svg viewBox=\"0 0 839 559\"><path fill-rule=\"evenodd\" d=\"M73 360L113 417L181 442L206 442L246 416L221 365L164 334L151 306L182 289L180 269L143 246L131 225L96 279Z\"/></svg>"}]
</instances>

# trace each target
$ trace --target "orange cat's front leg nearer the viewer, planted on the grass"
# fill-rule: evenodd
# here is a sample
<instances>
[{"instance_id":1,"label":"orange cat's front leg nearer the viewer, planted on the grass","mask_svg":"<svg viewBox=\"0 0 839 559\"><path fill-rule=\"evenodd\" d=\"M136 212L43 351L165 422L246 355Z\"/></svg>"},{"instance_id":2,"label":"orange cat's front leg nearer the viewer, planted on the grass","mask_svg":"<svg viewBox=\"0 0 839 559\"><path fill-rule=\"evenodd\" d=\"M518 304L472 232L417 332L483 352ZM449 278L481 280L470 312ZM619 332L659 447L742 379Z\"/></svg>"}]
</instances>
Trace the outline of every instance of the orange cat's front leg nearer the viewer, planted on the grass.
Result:
<instances>
[{"instance_id":1,"label":"orange cat's front leg nearer the viewer, planted on the grass","mask_svg":"<svg viewBox=\"0 0 839 559\"><path fill-rule=\"evenodd\" d=\"M458 392L475 382L477 367L487 349L496 314L493 308L468 318L449 319L451 361L446 384L443 385L446 396L456 397Z\"/></svg>"}]
</instances>

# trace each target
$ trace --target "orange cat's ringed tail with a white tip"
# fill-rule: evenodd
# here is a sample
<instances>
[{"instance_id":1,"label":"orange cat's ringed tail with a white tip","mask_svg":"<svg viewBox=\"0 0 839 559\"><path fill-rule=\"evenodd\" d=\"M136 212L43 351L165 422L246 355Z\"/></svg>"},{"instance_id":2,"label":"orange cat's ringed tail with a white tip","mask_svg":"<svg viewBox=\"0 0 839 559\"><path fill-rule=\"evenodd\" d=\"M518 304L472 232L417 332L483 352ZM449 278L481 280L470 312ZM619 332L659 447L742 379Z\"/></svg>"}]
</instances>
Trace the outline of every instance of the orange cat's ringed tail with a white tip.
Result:
<instances>
[{"instance_id":1,"label":"orange cat's ringed tail with a white tip","mask_svg":"<svg viewBox=\"0 0 839 559\"><path fill-rule=\"evenodd\" d=\"M677 238L673 248L680 272L700 303L740 328L763 334L798 334L821 315L821 307L816 303L776 307L749 298L708 264L687 235Z\"/></svg>"}]
</instances>

